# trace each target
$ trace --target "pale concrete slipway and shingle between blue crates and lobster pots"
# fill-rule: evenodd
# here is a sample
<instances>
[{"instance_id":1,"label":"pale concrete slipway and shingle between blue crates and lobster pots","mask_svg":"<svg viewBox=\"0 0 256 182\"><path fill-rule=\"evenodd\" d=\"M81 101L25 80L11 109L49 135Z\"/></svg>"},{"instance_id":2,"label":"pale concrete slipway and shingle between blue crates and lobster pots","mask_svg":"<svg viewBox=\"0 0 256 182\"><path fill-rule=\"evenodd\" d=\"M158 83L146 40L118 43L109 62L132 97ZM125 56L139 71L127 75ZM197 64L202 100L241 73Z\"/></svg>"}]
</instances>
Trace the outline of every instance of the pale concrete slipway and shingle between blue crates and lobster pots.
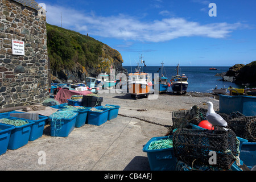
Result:
<instances>
[{"instance_id":1,"label":"pale concrete slipway and shingle between blue crates and lobster pots","mask_svg":"<svg viewBox=\"0 0 256 182\"><path fill-rule=\"evenodd\" d=\"M126 94L105 94L102 97L102 105L121 106L119 114L137 116L164 125L172 125L172 110L190 109L196 105L195 102L199 104L209 100L209 97L189 96L159 96L154 101L147 98L134 100ZM217 100L212 101L218 104ZM101 126L86 124L75 128L65 138L51 137L49 126L46 126L41 138L0 155L0 170L150 170L147 154L142 151L143 146L152 137L162 137L167 132L167 127L120 115ZM39 164L39 151L45 152L46 164Z\"/></svg>"}]
</instances>

